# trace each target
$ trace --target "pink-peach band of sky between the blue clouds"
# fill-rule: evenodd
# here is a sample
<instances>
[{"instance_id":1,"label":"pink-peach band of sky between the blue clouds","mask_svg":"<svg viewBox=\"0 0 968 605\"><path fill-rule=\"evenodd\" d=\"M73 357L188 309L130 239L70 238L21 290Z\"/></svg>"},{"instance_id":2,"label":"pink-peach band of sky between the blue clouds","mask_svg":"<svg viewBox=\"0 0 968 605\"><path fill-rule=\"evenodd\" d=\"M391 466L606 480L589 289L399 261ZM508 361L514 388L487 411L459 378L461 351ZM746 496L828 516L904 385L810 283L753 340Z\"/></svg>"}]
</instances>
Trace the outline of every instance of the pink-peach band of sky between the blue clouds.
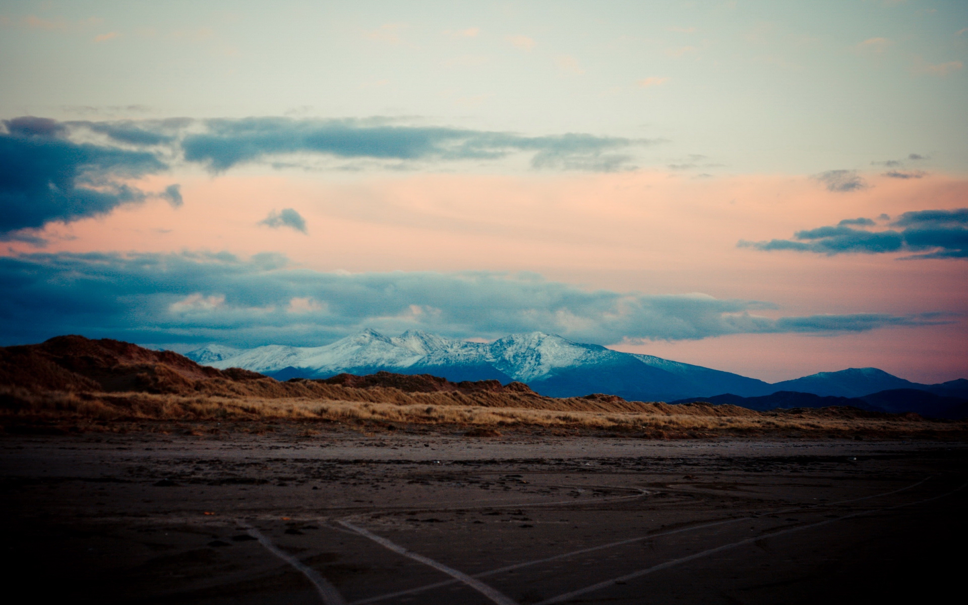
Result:
<instances>
[{"instance_id":1,"label":"pink-peach band of sky between the blue clouds","mask_svg":"<svg viewBox=\"0 0 968 605\"><path fill-rule=\"evenodd\" d=\"M964 313L963 260L737 247L740 239L786 239L841 219L955 208L968 198L968 180L945 174L865 178L868 189L835 193L802 175L196 174L177 179L182 207L150 200L52 224L46 251L278 252L320 271L532 271L589 288L766 300L780 306L764 312L771 317ZM160 191L172 182L153 177L139 186ZM304 217L308 234L258 225L283 208ZM771 380L863 365L933 382L968 375L966 336L958 319L831 337L737 335L616 348Z\"/></svg>"}]
</instances>

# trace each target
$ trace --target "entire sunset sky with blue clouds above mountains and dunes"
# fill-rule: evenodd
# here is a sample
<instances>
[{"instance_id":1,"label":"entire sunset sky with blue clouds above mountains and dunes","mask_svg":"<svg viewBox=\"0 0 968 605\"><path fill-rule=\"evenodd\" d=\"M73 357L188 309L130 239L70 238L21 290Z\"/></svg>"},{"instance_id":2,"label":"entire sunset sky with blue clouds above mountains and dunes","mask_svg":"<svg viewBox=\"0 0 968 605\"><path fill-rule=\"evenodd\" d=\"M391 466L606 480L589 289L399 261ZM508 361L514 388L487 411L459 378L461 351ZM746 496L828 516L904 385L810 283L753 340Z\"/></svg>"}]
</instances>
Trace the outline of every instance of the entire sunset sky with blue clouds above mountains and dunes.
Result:
<instances>
[{"instance_id":1,"label":"entire sunset sky with blue clouds above mountains and dunes","mask_svg":"<svg viewBox=\"0 0 968 605\"><path fill-rule=\"evenodd\" d=\"M0 346L968 378L964 2L0 0Z\"/></svg>"}]
</instances>

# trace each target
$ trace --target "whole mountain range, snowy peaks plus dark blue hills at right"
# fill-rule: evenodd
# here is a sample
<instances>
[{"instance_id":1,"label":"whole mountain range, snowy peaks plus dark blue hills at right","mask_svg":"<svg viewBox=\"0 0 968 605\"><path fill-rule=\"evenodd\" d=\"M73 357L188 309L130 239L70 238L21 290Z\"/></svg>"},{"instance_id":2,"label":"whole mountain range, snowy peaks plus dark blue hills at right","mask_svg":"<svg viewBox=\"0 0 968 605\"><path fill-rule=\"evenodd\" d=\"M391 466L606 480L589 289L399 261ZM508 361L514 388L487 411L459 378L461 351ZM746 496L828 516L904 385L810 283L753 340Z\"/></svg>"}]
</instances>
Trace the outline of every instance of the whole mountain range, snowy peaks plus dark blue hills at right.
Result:
<instances>
[{"instance_id":1,"label":"whole mountain range, snowy peaks plus dark blue hills at right","mask_svg":"<svg viewBox=\"0 0 968 605\"><path fill-rule=\"evenodd\" d=\"M896 389L968 397L968 380L964 378L921 384L876 368L851 368L771 384L653 355L575 343L542 332L473 343L418 330L389 337L367 329L323 347L269 345L238 349L210 345L185 355L214 368L242 368L281 380L387 371L431 374L453 381L517 380L549 397L610 393L630 401L669 402L722 394L763 397L794 391L821 397L859 398Z\"/></svg>"}]
</instances>

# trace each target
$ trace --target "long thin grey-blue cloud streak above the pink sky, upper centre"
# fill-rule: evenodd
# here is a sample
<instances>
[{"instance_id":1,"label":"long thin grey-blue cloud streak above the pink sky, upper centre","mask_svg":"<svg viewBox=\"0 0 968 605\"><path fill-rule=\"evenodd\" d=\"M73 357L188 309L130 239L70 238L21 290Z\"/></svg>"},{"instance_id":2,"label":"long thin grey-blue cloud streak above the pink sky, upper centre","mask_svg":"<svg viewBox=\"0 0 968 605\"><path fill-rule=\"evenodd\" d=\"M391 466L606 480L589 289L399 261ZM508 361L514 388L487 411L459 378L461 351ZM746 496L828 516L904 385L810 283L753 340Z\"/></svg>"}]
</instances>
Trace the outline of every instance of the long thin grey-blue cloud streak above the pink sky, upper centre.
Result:
<instances>
[{"instance_id":1,"label":"long thin grey-blue cloud streak above the pink sky, upper centre","mask_svg":"<svg viewBox=\"0 0 968 605\"><path fill-rule=\"evenodd\" d=\"M583 166L598 166L604 152L651 142L581 134L520 136L353 119L216 119L207 120L205 127L204 133L185 136L182 148L186 160L204 164L213 172L291 153L350 159L453 161L496 160L514 152L534 152L531 164L535 167L596 169Z\"/></svg>"}]
</instances>

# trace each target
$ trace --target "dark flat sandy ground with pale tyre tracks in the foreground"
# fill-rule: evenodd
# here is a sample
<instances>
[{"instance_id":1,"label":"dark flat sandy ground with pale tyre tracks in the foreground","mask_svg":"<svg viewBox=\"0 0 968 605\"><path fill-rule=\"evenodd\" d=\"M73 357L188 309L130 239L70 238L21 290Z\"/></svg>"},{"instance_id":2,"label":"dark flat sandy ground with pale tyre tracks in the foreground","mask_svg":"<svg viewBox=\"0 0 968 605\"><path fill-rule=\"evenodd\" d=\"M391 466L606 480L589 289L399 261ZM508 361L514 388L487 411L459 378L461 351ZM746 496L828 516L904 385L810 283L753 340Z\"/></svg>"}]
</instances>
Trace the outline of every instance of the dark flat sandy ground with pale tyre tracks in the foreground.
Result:
<instances>
[{"instance_id":1,"label":"dark flat sandy ground with pale tyre tracks in the foreground","mask_svg":"<svg viewBox=\"0 0 968 605\"><path fill-rule=\"evenodd\" d=\"M0 448L5 584L40 602L941 602L966 562L957 443L128 435Z\"/></svg>"}]
</instances>

